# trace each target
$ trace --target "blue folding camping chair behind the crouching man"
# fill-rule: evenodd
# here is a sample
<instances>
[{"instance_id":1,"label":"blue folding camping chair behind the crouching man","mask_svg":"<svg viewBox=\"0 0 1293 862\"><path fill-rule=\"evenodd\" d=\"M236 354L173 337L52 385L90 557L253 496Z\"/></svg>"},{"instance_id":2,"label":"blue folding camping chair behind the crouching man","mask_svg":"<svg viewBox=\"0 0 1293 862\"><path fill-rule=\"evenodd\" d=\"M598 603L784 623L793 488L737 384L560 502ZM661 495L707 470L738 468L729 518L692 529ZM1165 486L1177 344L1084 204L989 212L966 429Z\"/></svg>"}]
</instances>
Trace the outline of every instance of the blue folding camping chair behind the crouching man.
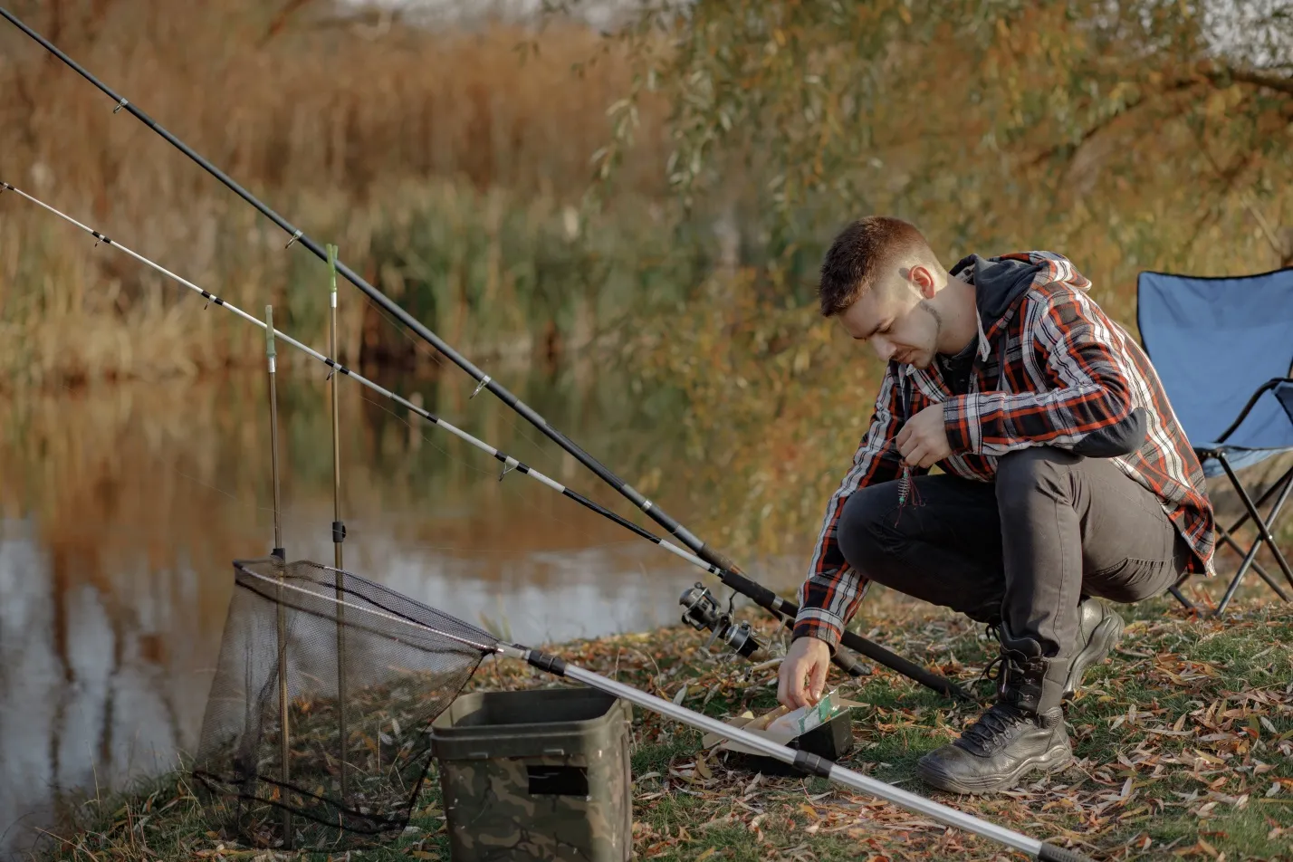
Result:
<instances>
[{"instance_id":1,"label":"blue folding camping chair behind the crouching man","mask_svg":"<svg viewBox=\"0 0 1293 862\"><path fill-rule=\"evenodd\" d=\"M1140 273L1137 305L1144 350L1204 474L1224 473L1246 510L1230 529L1217 525L1217 548L1224 544L1243 556L1217 614L1250 567L1289 601L1256 557L1265 544L1293 585L1293 571L1271 535L1293 489L1293 468L1256 503L1236 473L1293 451L1293 268L1237 278ZM1259 509L1271 498L1275 503L1263 518ZM1249 520L1257 539L1245 552L1234 536ZM1171 587L1173 596L1193 607L1179 587Z\"/></svg>"}]
</instances>

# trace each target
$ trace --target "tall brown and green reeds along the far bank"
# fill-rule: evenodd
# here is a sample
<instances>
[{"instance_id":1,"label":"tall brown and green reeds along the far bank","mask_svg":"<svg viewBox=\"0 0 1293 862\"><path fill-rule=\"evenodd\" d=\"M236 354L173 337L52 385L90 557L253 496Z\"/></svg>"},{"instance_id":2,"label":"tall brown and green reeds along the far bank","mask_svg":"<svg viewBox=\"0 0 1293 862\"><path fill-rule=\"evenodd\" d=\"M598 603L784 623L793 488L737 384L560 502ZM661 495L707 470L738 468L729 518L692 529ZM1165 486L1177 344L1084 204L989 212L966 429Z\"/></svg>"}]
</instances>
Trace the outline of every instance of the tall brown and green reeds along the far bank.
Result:
<instances>
[{"instance_id":1,"label":"tall brown and green reeds along the far bank","mask_svg":"<svg viewBox=\"0 0 1293 862\"><path fill-rule=\"evenodd\" d=\"M14 10L239 184L476 355L583 344L706 251L654 199L644 116L618 209L581 225L590 156L628 68L560 22L542 49L495 21L371 26L330 4L19 3ZM596 58L581 74L574 67ZM0 32L0 177L248 311L325 331L326 273L106 96ZM648 114L650 109L648 106ZM255 361L255 332L16 196L0 202L0 385L197 375ZM667 299L667 297L666 297ZM199 300L200 301L200 300ZM431 315L431 317L427 317ZM343 355L407 353L357 291ZM237 331L235 331L237 330Z\"/></svg>"}]
</instances>

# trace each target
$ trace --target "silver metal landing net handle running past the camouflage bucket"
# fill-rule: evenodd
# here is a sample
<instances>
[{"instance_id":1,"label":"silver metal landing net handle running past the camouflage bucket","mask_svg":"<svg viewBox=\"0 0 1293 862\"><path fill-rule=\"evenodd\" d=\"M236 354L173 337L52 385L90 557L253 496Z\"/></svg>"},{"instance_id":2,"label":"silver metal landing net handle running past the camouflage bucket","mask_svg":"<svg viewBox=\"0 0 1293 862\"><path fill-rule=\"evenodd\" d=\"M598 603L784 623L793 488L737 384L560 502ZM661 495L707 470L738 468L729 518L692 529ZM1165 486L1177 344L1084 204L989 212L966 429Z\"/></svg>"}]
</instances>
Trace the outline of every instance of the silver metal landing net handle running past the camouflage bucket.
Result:
<instances>
[{"instance_id":1,"label":"silver metal landing net handle running past the camouflage bucket","mask_svg":"<svg viewBox=\"0 0 1293 862\"><path fill-rule=\"evenodd\" d=\"M767 755L768 757L794 765L807 773L820 775L835 783L844 784L846 787L852 787L853 790L859 790L864 794L877 796L908 810L924 814L944 826L950 826L953 828L959 828L966 832L972 832L981 837L998 841L1016 850L1021 850L1032 858L1043 859L1046 862L1090 862L1087 857L1068 848L1040 841L1034 837L1015 832L1014 830L998 826L980 817L975 817L974 814L959 812L931 799L926 799L918 794L913 794L871 778L870 775L864 775L853 772L852 769L846 769L844 766L839 766L825 757L820 757L807 751L789 748L772 742L767 737L760 737L742 728L733 728L732 725L723 724L718 719L711 719L710 716L696 712L694 710L688 710L676 703L665 700L663 698L646 694L645 691L635 689L631 685L625 685L623 682L609 680L599 673L593 673L592 671L586 671L584 668L569 664L559 657L539 653L538 650L531 650L524 646L503 644L497 647L497 651L503 655L521 658L529 664L548 673L564 676L566 678L575 680L577 682L583 682L593 689L623 698L630 703L635 703L644 710L657 712L667 719L680 721L725 739L733 739L763 755Z\"/></svg>"}]
</instances>

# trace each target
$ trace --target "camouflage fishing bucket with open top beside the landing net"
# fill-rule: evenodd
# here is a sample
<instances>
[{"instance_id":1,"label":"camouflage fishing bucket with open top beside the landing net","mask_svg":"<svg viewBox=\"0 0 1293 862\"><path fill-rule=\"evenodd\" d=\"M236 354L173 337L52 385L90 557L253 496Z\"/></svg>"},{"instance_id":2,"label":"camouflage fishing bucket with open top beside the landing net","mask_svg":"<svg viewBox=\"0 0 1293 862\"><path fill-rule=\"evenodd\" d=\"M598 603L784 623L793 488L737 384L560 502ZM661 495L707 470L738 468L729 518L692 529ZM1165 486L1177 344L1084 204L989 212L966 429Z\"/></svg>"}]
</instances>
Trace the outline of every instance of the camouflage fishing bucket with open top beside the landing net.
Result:
<instances>
[{"instance_id":1,"label":"camouflage fishing bucket with open top beside the landing net","mask_svg":"<svg viewBox=\"0 0 1293 862\"><path fill-rule=\"evenodd\" d=\"M632 858L631 722L596 689L454 700L431 731L453 862Z\"/></svg>"}]
</instances>

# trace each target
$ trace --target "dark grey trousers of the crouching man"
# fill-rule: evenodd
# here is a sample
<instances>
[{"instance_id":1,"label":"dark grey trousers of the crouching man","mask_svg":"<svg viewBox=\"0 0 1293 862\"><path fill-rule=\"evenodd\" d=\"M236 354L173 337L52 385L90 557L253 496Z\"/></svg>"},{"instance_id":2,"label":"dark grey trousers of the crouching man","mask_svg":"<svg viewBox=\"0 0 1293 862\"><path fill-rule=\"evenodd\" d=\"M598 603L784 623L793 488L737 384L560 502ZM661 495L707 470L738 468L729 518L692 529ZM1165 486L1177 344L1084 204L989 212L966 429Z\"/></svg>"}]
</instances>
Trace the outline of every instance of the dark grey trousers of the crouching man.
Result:
<instances>
[{"instance_id":1,"label":"dark grey trousers of the crouching man","mask_svg":"<svg viewBox=\"0 0 1293 862\"><path fill-rule=\"evenodd\" d=\"M897 482L850 496L844 558L870 580L1036 640L1051 659L1047 689L1081 650L1082 600L1157 596L1190 558L1157 496L1107 459L1038 446L1002 456L994 482L914 485L921 505L899 508Z\"/></svg>"}]
</instances>

